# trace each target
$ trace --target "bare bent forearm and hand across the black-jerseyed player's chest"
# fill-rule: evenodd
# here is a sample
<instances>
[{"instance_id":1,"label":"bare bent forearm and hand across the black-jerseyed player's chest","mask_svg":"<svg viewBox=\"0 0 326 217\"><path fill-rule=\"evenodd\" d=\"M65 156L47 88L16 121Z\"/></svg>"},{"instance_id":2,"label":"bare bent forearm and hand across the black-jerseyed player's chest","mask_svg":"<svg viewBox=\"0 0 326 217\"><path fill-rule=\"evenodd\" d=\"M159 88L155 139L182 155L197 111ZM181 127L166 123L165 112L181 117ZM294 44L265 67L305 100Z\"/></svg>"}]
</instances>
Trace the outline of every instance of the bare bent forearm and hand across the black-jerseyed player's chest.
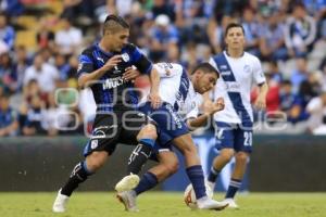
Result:
<instances>
[{"instance_id":1,"label":"bare bent forearm and hand across the black-jerseyed player's chest","mask_svg":"<svg viewBox=\"0 0 326 217\"><path fill-rule=\"evenodd\" d=\"M99 69L89 73L89 74L83 74L78 78L78 86L80 88L87 88L91 85L91 82L98 80L101 78L108 71L112 69L114 66L116 66L121 62L121 55L114 55Z\"/></svg>"}]
</instances>

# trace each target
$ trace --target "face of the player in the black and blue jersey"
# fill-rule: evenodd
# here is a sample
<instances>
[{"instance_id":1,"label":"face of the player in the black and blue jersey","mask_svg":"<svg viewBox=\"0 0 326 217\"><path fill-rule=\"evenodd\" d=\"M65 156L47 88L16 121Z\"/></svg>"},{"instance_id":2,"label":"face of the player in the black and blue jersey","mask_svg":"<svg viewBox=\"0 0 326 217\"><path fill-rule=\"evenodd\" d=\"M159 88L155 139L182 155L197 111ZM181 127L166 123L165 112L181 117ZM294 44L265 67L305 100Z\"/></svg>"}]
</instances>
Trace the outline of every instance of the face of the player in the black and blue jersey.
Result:
<instances>
[{"instance_id":1,"label":"face of the player in the black and blue jersey","mask_svg":"<svg viewBox=\"0 0 326 217\"><path fill-rule=\"evenodd\" d=\"M111 51L120 52L123 47L128 42L129 29L122 29L117 33L108 34L106 40L110 43Z\"/></svg>"}]
</instances>

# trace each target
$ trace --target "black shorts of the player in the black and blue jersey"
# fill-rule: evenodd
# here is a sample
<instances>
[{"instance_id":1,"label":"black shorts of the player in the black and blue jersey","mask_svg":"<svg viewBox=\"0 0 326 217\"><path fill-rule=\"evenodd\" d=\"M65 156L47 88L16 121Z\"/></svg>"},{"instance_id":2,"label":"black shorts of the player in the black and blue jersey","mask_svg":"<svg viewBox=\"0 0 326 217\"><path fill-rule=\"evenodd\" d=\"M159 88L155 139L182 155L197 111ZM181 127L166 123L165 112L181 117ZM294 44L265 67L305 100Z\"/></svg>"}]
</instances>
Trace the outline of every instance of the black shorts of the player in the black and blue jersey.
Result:
<instances>
[{"instance_id":1,"label":"black shorts of the player in the black and blue jersey","mask_svg":"<svg viewBox=\"0 0 326 217\"><path fill-rule=\"evenodd\" d=\"M117 143L137 145L137 135L148 123L151 122L139 111L97 114L84 156L93 151L106 151L111 155Z\"/></svg>"}]
</instances>

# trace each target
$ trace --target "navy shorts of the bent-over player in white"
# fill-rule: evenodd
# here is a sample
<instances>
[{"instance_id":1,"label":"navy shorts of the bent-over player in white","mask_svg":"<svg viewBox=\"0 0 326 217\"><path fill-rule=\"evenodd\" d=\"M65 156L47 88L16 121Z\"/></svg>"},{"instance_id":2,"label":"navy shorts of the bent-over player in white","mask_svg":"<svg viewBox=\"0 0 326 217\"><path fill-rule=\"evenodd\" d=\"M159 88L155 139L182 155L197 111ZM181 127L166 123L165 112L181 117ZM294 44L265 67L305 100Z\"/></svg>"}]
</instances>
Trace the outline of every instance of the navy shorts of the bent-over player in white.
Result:
<instances>
[{"instance_id":1,"label":"navy shorts of the bent-over player in white","mask_svg":"<svg viewBox=\"0 0 326 217\"><path fill-rule=\"evenodd\" d=\"M165 145L173 139L189 133L185 122L170 103L163 102L159 108L153 110L150 102L147 102L139 107L139 111L155 122L158 128L156 141L161 145Z\"/></svg>"}]
</instances>

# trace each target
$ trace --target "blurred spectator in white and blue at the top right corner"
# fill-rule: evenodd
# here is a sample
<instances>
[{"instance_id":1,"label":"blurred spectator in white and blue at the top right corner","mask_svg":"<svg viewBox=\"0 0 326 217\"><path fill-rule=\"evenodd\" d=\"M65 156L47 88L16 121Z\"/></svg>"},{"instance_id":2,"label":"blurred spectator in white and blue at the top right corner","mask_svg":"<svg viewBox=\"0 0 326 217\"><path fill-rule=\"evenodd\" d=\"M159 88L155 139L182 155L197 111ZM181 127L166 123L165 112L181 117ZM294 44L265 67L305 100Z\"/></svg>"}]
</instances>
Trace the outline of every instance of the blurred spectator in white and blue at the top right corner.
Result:
<instances>
[{"instance_id":1,"label":"blurred spectator in white and blue at the top right corner","mask_svg":"<svg viewBox=\"0 0 326 217\"><path fill-rule=\"evenodd\" d=\"M304 4L294 4L285 28L285 42L290 56L306 56L313 48L316 34L316 21L306 14Z\"/></svg>"}]
</instances>

